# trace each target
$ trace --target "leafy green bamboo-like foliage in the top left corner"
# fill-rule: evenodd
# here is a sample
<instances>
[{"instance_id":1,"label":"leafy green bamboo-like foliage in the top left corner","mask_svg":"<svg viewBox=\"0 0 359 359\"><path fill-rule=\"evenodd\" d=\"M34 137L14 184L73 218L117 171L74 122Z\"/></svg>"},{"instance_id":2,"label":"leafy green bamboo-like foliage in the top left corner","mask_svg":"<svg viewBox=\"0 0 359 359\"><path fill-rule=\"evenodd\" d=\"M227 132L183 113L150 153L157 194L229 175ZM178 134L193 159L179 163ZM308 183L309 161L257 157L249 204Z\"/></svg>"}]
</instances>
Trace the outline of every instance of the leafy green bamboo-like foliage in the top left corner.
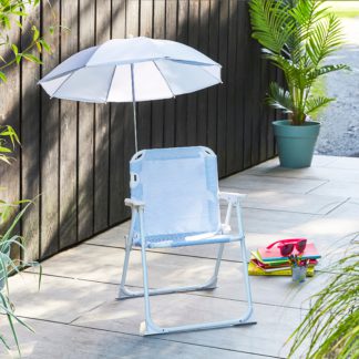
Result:
<instances>
[{"instance_id":1,"label":"leafy green bamboo-like foliage in the top left corner","mask_svg":"<svg viewBox=\"0 0 359 359\"><path fill-rule=\"evenodd\" d=\"M2 53L9 52L12 55L3 58L0 55L0 83L7 81L4 70L13 63L19 64L22 60L41 64L38 54L42 51L51 53L51 47L45 38L41 35L37 25L31 23L29 16L33 9L40 4L40 0L0 0L0 50ZM49 2L50 6L50 2ZM23 34L27 29L31 29L31 39L24 49L19 49L11 41L9 32L13 28L18 28ZM49 33L53 34L54 27L49 28ZM31 53L35 50L38 54Z\"/></svg>"}]
</instances>

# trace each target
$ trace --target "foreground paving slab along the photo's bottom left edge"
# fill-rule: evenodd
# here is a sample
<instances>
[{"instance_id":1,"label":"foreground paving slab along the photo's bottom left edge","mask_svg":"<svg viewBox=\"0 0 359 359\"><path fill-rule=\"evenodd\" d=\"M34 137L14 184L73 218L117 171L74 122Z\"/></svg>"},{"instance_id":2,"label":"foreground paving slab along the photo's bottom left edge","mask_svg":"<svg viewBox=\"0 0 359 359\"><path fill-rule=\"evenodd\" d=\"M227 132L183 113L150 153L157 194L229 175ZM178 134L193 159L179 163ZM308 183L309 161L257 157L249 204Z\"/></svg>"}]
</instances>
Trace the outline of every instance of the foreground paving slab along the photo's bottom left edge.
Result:
<instances>
[{"instance_id":1,"label":"foreground paving slab along the photo's bottom left edge","mask_svg":"<svg viewBox=\"0 0 359 359\"><path fill-rule=\"evenodd\" d=\"M17 326L22 358L32 359L259 359L248 352L236 352L213 347L181 343L171 340L126 336L94 328L62 325L42 320L24 320L35 334ZM1 332L10 338L8 327L0 325ZM1 358L17 358L16 347L10 352L0 351Z\"/></svg>"}]
</instances>

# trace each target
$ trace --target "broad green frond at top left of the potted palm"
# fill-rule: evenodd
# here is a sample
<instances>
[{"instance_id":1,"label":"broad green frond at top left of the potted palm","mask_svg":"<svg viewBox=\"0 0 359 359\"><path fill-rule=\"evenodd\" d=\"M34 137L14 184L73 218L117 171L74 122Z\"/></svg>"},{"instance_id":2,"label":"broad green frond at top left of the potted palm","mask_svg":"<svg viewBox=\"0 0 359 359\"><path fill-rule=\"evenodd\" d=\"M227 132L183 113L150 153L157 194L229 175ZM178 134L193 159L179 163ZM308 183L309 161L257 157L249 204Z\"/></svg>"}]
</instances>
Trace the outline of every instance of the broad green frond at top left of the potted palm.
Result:
<instances>
[{"instance_id":1,"label":"broad green frond at top left of the potted palm","mask_svg":"<svg viewBox=\"0 0 359 359\"><path fill-rule=\"evenodd\" d=\"M277 0L252 0L249 13L253 27L252 37L274 53L280 53L294 25L289 8Z\"/></svg>"}]
</instances>

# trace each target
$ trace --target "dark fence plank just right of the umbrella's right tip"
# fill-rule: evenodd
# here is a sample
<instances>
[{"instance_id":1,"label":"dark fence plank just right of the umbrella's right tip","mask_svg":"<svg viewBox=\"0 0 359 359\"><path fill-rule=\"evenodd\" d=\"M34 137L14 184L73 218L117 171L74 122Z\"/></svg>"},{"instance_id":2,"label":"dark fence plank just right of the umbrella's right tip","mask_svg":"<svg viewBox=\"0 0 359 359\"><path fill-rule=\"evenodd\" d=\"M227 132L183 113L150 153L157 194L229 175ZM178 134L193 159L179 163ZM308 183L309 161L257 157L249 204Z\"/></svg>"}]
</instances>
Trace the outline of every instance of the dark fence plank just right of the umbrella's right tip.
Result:
<instances>
[{"instance_id":1,"label":"dark fence plank just right of the umbrella's right tip","mask_svg":"<svg viewBox=\"0 0 359 359\"><path fill-rule=\"evenodd\" d=\"M238 141L236 132L236 62L237 62L237 4L238 1L229 0L228 19L228 65L227 71L227 129L226 129L226 175L238 171L236 162L235 143Z\"/></svg>"}]
</instances>

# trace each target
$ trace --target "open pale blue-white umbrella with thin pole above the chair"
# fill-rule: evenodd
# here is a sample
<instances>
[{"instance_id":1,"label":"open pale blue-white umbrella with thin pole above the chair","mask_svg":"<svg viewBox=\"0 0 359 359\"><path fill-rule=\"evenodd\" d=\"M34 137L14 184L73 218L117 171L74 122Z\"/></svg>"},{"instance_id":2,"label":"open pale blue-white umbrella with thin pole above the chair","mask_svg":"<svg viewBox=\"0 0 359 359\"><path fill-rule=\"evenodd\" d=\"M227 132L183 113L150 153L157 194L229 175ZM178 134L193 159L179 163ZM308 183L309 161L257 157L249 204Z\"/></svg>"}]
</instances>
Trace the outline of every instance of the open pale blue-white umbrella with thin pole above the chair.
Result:
<instances>
[{"instance_id":1,"label":"open pale blue-white umbrella with thin pole above the chair","mask_svg":"<svg viewBox=\"0 0 359 359\"><path fill-rule=\"evenodd\" d=\"M51 98L133 102L134 121L136 101L170 99L219 82L220 65L203 53L148 38L114 39L80 51L39 81Z\"/></svg>"}]
</instances>

